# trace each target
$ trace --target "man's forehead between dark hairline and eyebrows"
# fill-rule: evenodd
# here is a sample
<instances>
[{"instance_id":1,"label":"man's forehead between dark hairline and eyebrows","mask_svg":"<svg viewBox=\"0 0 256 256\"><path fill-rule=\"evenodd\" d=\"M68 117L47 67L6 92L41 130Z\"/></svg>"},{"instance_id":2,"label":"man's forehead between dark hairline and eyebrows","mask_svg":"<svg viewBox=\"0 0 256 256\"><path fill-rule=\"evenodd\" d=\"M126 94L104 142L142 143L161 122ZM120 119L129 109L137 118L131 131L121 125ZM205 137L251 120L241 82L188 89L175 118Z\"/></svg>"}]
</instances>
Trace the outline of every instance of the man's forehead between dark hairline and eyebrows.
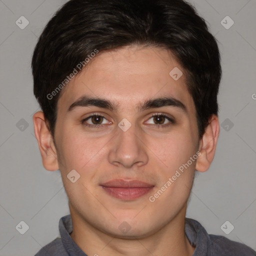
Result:
<instances>
[{"instance_id":1,"label":"man's forehead between dark hairline and eyebrows","mask_svg":"<svg viewBox=\"0 0 256 256\"><path fill-rule=\"evenodd\" d=\"M67 111L82 95L112 100L120 111L163 96L176 98L187 108L194 107L184 70L166 49L121 47L98 53L85 67L65 87L58 110Z\"/></svg>"}]
</instances>

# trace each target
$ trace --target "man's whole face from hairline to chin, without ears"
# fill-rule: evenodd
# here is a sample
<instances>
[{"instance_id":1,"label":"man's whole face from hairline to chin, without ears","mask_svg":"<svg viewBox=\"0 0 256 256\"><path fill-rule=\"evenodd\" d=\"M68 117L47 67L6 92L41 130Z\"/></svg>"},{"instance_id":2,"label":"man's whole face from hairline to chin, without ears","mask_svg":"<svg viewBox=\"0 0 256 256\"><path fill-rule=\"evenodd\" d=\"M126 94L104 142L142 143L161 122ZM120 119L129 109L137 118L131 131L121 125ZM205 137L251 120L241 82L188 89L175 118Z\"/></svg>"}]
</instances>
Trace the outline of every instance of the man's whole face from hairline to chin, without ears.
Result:
<instances>
[{"instance_id":1,"label":"man's whole face from hairline to chin, without ears","mask_svg":"<svg viewBox=\"0 0 256 256\"><path fill-rule=\"evenodd\" d=\"M102 232L143 237L185 214L198 129L177 68L157 47L98 53L58 100L55 145L70 211Z\"/></svg>"}]
</instances>

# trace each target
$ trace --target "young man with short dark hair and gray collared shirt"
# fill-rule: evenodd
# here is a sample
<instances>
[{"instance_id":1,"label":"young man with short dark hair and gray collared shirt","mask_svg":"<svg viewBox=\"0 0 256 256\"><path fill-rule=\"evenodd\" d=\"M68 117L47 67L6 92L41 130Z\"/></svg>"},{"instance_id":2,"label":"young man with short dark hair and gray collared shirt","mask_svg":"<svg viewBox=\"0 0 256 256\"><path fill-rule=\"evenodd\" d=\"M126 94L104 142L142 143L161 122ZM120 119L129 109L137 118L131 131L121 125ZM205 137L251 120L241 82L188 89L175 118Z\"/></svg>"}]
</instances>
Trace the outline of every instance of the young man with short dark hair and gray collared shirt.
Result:
<instances>
[{"instance_id":1,"label":"young man with short dark hair and gray collared shirt","mask_svg":"<svg viewBox=\"0 0 256 256\"><path fill-rule=\"evenodd\" d=\"M182 0L70 0L32 58L33 116L70 215L36 255L256 255L185 218L218 133L219 51Z\"/></svg>"}]
</instances>

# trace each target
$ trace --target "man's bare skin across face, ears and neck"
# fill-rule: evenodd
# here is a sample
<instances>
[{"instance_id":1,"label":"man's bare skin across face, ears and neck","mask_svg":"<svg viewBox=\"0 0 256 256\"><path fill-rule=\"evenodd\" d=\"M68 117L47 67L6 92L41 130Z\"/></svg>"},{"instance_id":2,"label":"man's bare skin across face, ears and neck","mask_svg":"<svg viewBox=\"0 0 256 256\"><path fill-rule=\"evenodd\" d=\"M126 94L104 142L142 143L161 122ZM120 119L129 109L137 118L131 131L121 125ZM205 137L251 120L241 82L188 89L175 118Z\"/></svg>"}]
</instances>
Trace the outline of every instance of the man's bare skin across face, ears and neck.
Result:
<instances>
[{"instance_id":1,"label":"man's bare skin across face, ears and neck","mask_svg":"<svg viewBox=\"0 0 256 256\"><path fill-rule=\"evenodd\" d=\"M171 251L172 256L184 256L194 251L184 232L187 200L195 169L206 171L213 159L219 123L212 115L199 139L184 72L175 81L169 75L174 67L183 70L162 48L132 45L100 52L61 92L55 144L43 113L33 115L42 163L47 170L61 172L73 223L70 235L88 255L169 255ZM68 111L82 95L112 100L118 108L79 106ZM180 100L186 111L177 106L136 108L163 96ZM95 112L105 117L100 119L101 127L81 123ZM152 114L167 115L174 123L166 118L157 121ZM131 124L126 131L118 127L123 118ZM93 125L93 120L87 123ZM159 127L159 122L169 125ZM150 202L149 196L196 151L200 151L197 160ZM74 183L66 177L72 169L80 174ZM121 200L99 185L114 178L138 179L154 187L137 199ZM118 228L123 221L130 226L125 233Z\"/></svg>"}]
</instances>

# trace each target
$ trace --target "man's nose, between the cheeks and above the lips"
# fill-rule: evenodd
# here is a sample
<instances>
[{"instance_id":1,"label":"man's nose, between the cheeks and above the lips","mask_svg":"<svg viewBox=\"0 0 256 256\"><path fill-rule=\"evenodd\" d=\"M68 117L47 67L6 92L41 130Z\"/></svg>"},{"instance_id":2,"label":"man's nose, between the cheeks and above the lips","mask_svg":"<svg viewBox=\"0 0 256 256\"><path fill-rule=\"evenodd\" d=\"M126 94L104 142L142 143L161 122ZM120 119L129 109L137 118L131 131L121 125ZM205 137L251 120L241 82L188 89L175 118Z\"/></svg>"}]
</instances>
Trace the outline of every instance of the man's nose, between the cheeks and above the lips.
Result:
<instances>
[{"instance_id":1,"label":"man's nose, between the cheeks and above the lips","mask_svg":"<svg viewBox=\"0 0 256 256\"><path fill-rule=\"evenodd\" d=\"M108 154L108 160L115 166L125 168L142 166L148 162L146 145L142 134L132 124L126 131L117 127L117 134L113 137Z\"/></svg>"}]
</instances>

